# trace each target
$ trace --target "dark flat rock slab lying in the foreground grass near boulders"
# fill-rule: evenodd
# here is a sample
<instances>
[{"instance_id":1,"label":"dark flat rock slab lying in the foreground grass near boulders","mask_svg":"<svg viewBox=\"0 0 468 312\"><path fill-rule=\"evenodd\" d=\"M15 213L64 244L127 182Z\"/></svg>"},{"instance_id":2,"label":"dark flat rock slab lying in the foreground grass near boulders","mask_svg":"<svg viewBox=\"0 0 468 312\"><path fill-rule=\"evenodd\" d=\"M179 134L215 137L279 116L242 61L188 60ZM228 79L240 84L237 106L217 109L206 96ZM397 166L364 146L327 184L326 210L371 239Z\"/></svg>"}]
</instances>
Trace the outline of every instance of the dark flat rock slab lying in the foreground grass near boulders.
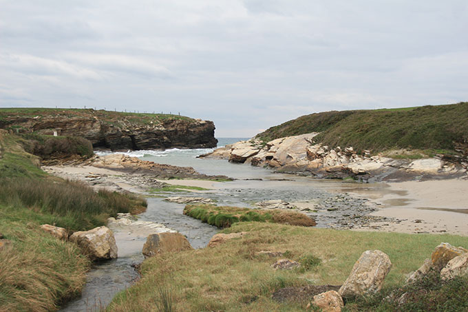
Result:
<instances>
[{"instance_id":1,"label":"dark flat rock slab lying in the foreground grass near boulders","mask_svg":"<svg viewBox=\"0 0 468 312\"><path fill-rule=\"evenodd\" d=\"M310 302L315 295L326 291L338 291L341 285L308 285L303 287L285 287L273 293L271 298L277 302Z\"/></svg>"}]
</instances>

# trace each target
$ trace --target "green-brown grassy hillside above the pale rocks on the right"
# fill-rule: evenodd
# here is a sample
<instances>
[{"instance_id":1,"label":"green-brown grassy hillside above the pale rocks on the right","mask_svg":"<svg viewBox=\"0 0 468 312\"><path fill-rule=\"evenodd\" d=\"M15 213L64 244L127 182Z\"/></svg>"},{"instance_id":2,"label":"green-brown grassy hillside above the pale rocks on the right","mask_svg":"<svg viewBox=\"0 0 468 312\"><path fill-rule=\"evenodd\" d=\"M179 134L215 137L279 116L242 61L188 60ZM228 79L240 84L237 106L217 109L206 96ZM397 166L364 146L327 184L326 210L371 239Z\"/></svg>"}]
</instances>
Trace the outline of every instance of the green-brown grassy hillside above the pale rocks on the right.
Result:
<instances>
[{"instance_id":1,"label":"green-brown grassy hillside above the pale rocks on the right","mask_svg":"<svg viewBox=\"0 0 468 312\"><path fill-rule=\"evenodd\" d=\"M270 127L257 137L270 141L284 136L320 132L317 143L331 147L370 149L467 149L468 103L393 110L352 110L301 116Z\"/></svg>"}]
</instances>

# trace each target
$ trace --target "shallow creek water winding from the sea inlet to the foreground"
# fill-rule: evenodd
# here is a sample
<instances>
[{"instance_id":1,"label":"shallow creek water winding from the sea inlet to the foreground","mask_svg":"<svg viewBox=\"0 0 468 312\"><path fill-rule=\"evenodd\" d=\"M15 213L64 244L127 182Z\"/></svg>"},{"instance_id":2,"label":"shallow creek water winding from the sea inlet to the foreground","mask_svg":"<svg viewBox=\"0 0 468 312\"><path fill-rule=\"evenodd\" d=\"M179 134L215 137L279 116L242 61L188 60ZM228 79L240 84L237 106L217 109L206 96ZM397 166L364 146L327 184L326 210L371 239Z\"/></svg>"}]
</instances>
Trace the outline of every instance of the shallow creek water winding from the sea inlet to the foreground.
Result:
<instances>
[{"instance_id":1,"label":"shallow creek water winding from the sea inlet to the foreground","mask_svg":"<svg viewBox=\"0 0 468 312\"><path fill-rule=\"evenodd\" d=\"M235 143L245 138L220 138L218 146ZM167 149L127 152L142 160L184 167L193 167L202 174L222 174L237 180L213 183L212 190L202 191L195 196L217 200L217 205L252 207L261 200L281 199L288 202L310 202L310 215L317 227L328 227L339 216L365 209L365 200L351 198L331 191L349 187L345 183L330 180L277 174L272 170L250 165L228 163L226 160L200 159L196 156L213 149ZM98 154L109 154L100 152ZM355 187L355 186L354 186ZM177 194L184 195L184 194ZM174 196L174 195L168 195ZM191 194L190 196L194 196ZM148 208L139 219L158 222L187 236L194 248L205 247L218 229L199 220L184 216L184 205L165 202L162 198L147 198ZM339 207L340 209L336 209ZM319 212L318 214L315 214ZM321 212L321 213L320 213ZM80 298L69 302L61 311L99 311L107 306L116 293L129 287L138 274L131 264L142 261L141 250L146 237L125 240L125 233L116 233L118 259L96 264L87 275L87 284Z\"/></svg>"}]
</instances>

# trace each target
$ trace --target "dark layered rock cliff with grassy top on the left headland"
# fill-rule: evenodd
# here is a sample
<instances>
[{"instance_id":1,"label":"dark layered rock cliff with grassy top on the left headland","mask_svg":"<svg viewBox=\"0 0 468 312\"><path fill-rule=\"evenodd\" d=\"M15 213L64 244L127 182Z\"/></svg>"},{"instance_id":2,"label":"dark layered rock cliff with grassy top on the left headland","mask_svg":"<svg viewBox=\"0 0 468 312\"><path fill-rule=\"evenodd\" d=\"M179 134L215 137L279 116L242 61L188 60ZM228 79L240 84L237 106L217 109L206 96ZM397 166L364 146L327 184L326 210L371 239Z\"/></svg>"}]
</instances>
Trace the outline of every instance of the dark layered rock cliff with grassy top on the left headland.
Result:
<instances>
[{"instance_id":1,"label":"dark layered rock cliff with grassy top on the left headland","mask_svg":"<svg viewBox=\"0 0 468 312\"><path fill-rule=\"evenodd\" d=\"M79 136L93 147L165 149L215 147L215 125L184 116L95 110L0 110L0 128L18 133Z\"/></svg>"}]
</instances>

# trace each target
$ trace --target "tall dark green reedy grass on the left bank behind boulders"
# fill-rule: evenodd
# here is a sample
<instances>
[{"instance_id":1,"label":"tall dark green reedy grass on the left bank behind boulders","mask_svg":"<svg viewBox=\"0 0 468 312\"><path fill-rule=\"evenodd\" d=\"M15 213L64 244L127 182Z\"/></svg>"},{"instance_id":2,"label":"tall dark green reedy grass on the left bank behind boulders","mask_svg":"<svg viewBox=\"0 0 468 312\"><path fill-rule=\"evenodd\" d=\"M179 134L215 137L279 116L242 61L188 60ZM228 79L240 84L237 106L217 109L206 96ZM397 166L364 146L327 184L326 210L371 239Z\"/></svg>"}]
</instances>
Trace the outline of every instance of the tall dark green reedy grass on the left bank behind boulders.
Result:
<instances>
[{"instance_id":1,"label":"tall dark green reedy grass on the left bank behind boulders","mask_svg":"<svg viewBox=\"0 0 468 312\"><path fill-rule=\"evenodd\" d=\"M144 198L132 194L104 189L96 192L69 180L28 178L0 180L0 204L52 215L56 225L75 231L104 225L109 216L142 211L147 205Z\"/></svg>"}]
</instances>

